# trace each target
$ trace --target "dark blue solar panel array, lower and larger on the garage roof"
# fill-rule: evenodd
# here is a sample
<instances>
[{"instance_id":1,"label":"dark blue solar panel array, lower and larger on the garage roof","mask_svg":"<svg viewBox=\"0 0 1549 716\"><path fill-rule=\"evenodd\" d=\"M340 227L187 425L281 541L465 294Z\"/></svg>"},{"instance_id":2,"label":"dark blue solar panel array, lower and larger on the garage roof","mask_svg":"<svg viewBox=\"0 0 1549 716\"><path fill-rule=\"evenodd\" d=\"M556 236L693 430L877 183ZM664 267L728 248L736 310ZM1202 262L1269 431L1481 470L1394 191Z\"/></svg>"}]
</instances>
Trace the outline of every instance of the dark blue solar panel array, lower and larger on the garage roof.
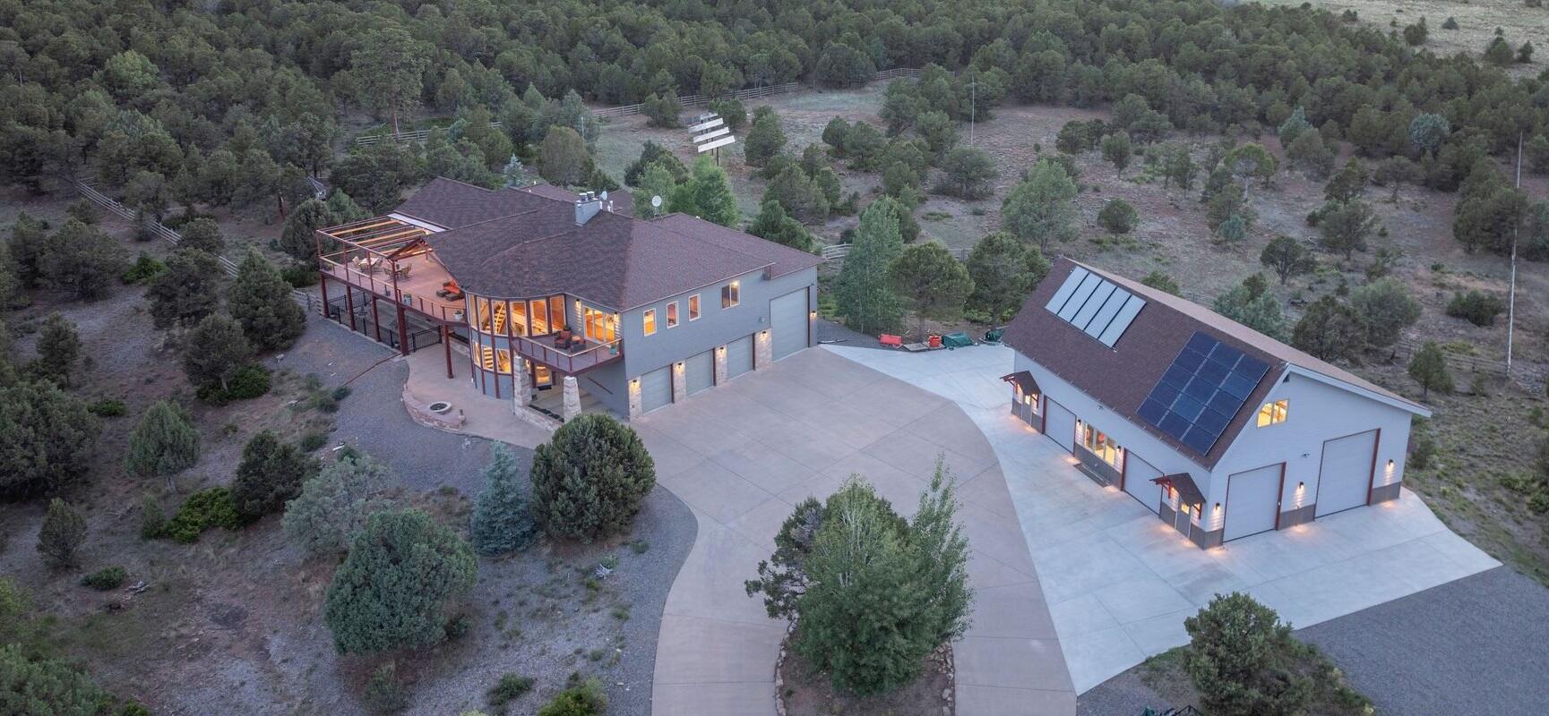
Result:
<instances>
[{"instance_id":1,"label":"dark blue solar panel array, lower and larger on the garage roof","mask_svg":"<svg viewBox=\"0 0 1549 716\"><path fill-rule=\"evenodd\" d=\"M1194 331L1140 404L1143 421L1205 455L1259 384L1269 365Z\"/></svg>"}]
</instances>

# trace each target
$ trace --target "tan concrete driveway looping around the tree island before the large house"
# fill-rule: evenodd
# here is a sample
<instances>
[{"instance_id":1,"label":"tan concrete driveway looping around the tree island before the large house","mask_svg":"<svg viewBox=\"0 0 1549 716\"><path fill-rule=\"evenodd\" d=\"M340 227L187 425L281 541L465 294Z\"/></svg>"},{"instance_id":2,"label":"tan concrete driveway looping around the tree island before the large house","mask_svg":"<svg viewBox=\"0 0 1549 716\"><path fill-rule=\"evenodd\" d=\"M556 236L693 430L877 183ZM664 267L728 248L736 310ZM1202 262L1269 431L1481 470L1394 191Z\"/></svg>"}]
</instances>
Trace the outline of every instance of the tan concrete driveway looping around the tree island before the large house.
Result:
<instances>
[{"instance_id":1,"label":"tan concrete driveway looping around the tree island before the large house","mask_svg":"<svg viewBox=\"0 0 1549 716\"><path fill-rule=\"evenodd\" d=\"M937 455L959 479L973 628L954 646L960 716L1073 714L1075 690L996 453L951 401L807 349L634 422L657 479L699 521L657 643L655 716L774 713L784 622L744 592L795 503L860 473L914 512Z\"/></svg>"}]
</instances>

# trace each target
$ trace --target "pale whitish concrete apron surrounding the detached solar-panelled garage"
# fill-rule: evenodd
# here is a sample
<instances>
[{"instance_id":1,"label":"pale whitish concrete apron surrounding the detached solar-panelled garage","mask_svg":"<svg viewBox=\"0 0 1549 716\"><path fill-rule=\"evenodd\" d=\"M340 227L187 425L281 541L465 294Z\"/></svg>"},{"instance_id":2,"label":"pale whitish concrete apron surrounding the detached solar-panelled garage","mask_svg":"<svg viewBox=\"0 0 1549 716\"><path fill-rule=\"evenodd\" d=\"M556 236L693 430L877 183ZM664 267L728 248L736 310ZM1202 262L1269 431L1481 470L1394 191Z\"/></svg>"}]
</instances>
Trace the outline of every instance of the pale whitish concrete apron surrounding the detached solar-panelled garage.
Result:
<instances>
[{"instance_id":1,"label":"pale whitish concrete apron surrounding the detached solar-panelled garage","mask_svg":"<svg viewBox=\"0 0 1549 716\"><path fill-rule=\"evenodd\" d=\"M1183 619L1218 592L1248 592L1310 626L1499 566L1410 490L1200 551L1008 414L999 377L1011 371L1010 348L823 349L950 399L982 430L1007 475L1077 693L1187 643Z\"/></svg>"}]
</instances>

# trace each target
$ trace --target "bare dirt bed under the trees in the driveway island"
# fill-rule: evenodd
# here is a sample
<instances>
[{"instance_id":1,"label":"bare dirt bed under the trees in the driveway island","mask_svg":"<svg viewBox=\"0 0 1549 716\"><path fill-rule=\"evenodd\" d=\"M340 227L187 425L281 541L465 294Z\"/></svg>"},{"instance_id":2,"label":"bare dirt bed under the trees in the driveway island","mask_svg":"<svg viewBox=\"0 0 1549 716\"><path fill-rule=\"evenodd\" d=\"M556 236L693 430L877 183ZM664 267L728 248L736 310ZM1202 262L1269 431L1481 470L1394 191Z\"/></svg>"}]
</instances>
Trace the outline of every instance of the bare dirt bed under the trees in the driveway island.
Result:
<instances>
[{"instance_id":1,"label":"bare dirt bed under the trees in the driveway island","mask_svg":"<svg viewBox=\"0 0 1549 716\"><path fill-rule=\"evenodd\" d=\"M827 716L838 713L886 716L951 716L953 648L942 646L926 657L925 670L903 688L871 699L833 691L826 671L816 671L790 650L790 639L781 646L781 663L774 674L781 690L778 699L787 716Z\"/></svg>"}]
</instances>

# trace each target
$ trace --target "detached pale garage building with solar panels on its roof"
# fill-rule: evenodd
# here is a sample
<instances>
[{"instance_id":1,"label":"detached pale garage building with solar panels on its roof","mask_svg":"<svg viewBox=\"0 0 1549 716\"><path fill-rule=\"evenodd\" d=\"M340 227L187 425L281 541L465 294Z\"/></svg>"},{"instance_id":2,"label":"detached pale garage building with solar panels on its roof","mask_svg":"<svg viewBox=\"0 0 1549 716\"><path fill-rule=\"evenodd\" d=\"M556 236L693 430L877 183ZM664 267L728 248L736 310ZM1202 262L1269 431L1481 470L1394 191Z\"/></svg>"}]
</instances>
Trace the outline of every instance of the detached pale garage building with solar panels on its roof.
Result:
<instances>
[{"instance_id":1,"label":"detached pale garage building with solar panels on its roof","mask_svg":"<svg viewBox=\"0 0 1549 716\"><path fill-rule=\"evenodd\" d=\"M1061 258L1004 336L1011 413L1200 547L1397 499L1430 410Z\"/></svg>"}]
</instances>

